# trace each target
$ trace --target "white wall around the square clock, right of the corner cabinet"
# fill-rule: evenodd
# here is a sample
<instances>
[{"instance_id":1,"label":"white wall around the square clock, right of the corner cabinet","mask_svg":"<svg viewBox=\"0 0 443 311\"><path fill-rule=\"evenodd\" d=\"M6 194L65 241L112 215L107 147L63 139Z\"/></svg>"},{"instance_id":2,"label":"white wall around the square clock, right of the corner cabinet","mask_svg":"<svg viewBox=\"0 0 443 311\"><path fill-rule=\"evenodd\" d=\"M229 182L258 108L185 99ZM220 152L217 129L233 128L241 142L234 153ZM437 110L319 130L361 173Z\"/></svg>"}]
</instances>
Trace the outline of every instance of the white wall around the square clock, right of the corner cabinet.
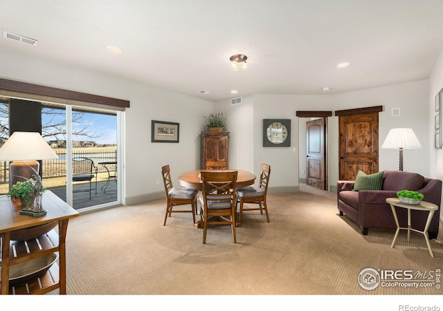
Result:
<instances>
[{"instance_id":1,"label":"white wall around the square clock, right of the corner cabinet","mask_svg":"<svg viewBox=\"0 0 443 311\"><path fill-rule=\"evenodd\" d=\"M245 98L245 97L244 97ZM260 164L271 165L272 191L298 191L298 117L297 110L311 110L313 105L327 106L326 96L306 95L266 95L255 94L246 97L247 108L242 105L231 106L230 101L216 104L217 111L224 111L228 120L233 117L239 121L237 128L229 129L231 137L244 144L230 145L230 163L235 161L239 169L251 167L255 175L260 174ZM263 119L291 120L291 147L263 147ZM231 160L233 159L234 160Z\"/></svg>"}]
</instances>

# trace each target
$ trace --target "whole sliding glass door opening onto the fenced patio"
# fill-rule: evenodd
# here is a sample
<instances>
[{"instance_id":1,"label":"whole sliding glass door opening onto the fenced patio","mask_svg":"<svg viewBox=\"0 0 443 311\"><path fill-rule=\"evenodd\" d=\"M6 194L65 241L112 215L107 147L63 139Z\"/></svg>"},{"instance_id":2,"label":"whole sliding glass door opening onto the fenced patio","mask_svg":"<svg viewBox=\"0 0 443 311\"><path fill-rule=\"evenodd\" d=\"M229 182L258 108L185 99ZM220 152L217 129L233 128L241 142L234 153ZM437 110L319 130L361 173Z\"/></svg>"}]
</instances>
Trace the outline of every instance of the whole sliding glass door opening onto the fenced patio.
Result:
<instances>
[{"instance_id":1,"label":"whole sliding glass door opening onto the fenced patio","mask_svg":"<svg viewBox=\"0 0 443 311\"><path fill-rule=\"evenodd\" d=\"M38 104L42 106L41 114L31 118L39 119L43 138L58 155L58 159L40 161L44 186L79 211L119 205L122 113L64 104ZM1 137L5 136L3 141L9 134L8 106L7 99L0 102L0 125L6 129ZM6 194L9 163L0 164L0 192Z\"/></svg>"}]
</instances>

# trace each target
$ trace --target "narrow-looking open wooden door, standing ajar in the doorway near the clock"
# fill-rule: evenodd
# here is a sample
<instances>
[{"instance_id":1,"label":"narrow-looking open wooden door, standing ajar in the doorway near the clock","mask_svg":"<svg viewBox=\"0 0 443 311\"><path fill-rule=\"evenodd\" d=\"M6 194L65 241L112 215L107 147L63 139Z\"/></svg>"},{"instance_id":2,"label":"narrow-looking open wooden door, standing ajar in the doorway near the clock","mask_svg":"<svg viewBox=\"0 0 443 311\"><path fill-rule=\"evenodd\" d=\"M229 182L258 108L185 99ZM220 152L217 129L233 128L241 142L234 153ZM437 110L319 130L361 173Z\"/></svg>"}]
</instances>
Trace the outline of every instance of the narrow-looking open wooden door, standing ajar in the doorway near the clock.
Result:
<instances>
[{"instance_id":1,"label":"narrow-looking open wooden door, standing ajar in the doorway near the clock","mask_svg":"<svg viewBox=\"0 0 443 311\"><path fill-rule=\"evenodd\" d=\"M327 189L326 118L306 122L306 185Z\"/></svg>"}]
</instances>

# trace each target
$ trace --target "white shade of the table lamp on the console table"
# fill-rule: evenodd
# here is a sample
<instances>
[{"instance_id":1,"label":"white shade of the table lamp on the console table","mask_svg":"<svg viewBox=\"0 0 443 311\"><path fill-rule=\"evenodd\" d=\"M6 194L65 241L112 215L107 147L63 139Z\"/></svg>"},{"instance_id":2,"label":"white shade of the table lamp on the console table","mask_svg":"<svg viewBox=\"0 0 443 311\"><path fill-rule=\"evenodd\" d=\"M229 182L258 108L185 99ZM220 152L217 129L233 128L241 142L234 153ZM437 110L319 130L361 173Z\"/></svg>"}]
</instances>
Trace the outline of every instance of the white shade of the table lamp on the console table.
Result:
<instances>
[{"instance_id":1,"label":"white shade of the table lamp on the console table","mask_svg":"<svg viewBox=\"0 0 443 311\"><path fill-rule=\"evenodd\" d=\"M57 153L37 132L14 132L0 148L1 161L57 159Z\"/></svg>"}]
</instances>

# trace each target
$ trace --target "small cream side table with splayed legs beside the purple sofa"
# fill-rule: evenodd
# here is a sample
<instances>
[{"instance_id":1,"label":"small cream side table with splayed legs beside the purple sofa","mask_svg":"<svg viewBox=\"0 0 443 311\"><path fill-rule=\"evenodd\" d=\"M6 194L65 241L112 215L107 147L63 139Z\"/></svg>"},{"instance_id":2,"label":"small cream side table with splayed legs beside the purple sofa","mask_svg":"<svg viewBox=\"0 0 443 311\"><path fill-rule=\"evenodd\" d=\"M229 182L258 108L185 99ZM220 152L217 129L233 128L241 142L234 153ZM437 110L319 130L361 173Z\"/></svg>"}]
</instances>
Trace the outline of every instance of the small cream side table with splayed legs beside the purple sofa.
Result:
<instances>
[{"instance_id":1,"label":"small cream side table with splayed legs beside the purple sofa","mask_svg":"<svg viewBox=\"0 0 443 311\"><path fill-rule=\"evenodd\" d=\"M431 220L432 220L432 216L434 214L434 211L436 211L438 209L437 205L435 205L431 202L425 202L425 201L422 201L422 202L420 202L420 204L416 204L416 205L415 204L407 204L407 203L400 202L399 198L387 198L386 202L390 205L390 208L392 209L392 215L394 216L395 224L397 225L397 231L395 231L394 240L392 241L392 244L390 245L390 247L392 247L392 248L394 247L395 241L397 240L397 236L399 236L400 230L408 230L408 243L409 243L410 232L412 230L412 231L419 232L424 235L424 239L426 240L426 245L428 245L429 254L431 254L431 257L434 257L434 253L432 252L431 244L429 243L428 228L429 228L429 225L431 225ZM397 218L397 212L395 211L395 207L401 207L404 209L408 209L408 227L407 228L400 227L399 220ZM417 211L427 211L428 212L428 219L426 220L426 225L424 226L423 231L419 231L417 229L413 229L410 227L410 210L411 209L415 209Z\"/></svg>"}]
</instances>

